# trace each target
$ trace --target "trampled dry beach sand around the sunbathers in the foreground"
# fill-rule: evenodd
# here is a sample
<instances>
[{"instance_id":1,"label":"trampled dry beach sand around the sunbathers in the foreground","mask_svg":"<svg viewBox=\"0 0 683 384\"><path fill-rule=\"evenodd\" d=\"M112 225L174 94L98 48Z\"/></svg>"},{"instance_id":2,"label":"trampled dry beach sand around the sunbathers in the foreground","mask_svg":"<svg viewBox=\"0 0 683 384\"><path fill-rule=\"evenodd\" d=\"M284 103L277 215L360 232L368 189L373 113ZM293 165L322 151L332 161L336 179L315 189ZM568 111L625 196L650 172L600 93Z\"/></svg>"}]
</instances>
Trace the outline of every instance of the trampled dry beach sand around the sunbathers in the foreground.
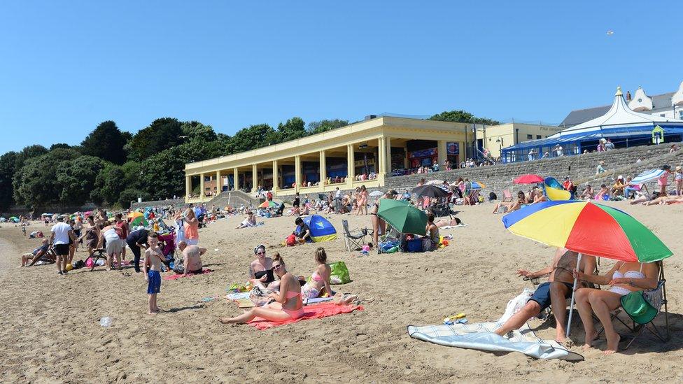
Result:
<instances>
[{"instance_id":1,"label":"trampled dry beach sand around the sunbathers in the foreground","mask_svg":"<svg viewBox=\"0 0 683 384\"><path fill-rule=\"evenodd\" d=\"M234 230L242 220L237 217L200 230L200 243L209 248L205 264L215 272L164 280L159 303L166 312L155 316L146 313L143 276L132 269L81 269L64 277L52 265L18 269L20 252L36 248L39 240L24 238L20 229L5 224L0 229L0 381L681 381L683 206L614 205L642 220L675 253L666 261L673 339L660 344L644 334L626 353L605 357L593 350L574 364L447 348L407 335L407 325L439 323L453 313L467 313L470 322L498 318L507 300L526 286L514 271L550 262L554 250L507 232L489 205L461 207L459 217L469 225L442 231L455 240L433 253L358 257L344 250L341 236L324 243L330 261L344 260L353 278L337 289L374 300L365 311L266 331L221 325L217 319L236 315L237 306L225 299L200 301L223 297L227 285L245 280L253 247L277 246L293 229L293 218ZM341 229L343 218L351 227L369 226L367 216L333 215L330 220ZM29 229L49 230L42 224ZM290 271L309 275L317 246L268 252L279 251ZM77 253L79 258L84 253ZM611 265L603 259L602 270ZM102 316L111 316L113 326L100 327ZM576 321L572 337L582 341ZM554 337L550 323L534 320L530 325L539 336ZM604 339L597 346L604 348ZM581 352L580 343L574 350Z\"/></svg>"}]
</instances>

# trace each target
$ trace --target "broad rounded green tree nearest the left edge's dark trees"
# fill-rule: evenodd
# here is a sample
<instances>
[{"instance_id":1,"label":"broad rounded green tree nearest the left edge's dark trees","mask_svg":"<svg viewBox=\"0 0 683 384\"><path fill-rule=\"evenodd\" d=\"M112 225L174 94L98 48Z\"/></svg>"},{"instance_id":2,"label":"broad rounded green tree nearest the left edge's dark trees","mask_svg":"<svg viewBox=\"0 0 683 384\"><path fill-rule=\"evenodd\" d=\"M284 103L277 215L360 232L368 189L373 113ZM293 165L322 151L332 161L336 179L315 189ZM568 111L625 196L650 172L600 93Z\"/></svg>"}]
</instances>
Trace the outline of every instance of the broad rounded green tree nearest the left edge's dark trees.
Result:
<instances>
[{"instance_id":1,"label":"broad rounded green tree nearest the left edge's dark trees","mask_svg":"<svg viewBox=\"0 0 683 384\"><path fill-rule=\"evenodd\" d=\"M79 156L76 150L57 148L27 159L13 178L15 201L29 207L59 204L62 184L57 172Z\"/></svg>"}]
</instances>

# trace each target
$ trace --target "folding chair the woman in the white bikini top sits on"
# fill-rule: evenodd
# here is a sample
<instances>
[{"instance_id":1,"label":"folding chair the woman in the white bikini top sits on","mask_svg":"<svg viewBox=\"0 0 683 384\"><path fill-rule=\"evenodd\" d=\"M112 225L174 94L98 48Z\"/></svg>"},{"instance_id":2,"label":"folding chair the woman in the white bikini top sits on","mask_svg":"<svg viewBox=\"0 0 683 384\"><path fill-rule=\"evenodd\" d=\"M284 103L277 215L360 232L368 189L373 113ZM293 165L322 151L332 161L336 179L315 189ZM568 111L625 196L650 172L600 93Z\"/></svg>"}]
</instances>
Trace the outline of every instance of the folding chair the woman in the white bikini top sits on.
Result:
<instances>
[{"instance_id":1,"label":"folding chair the woman in the white bikini top sits on","mask_svg":"<svg viewBox=\"0 0 683 384\"><path fill-rule=\"evenodd\" d=\"M641 324L640 322L634 320L634 318L624 310L624 307L621 306L611 313L612 321L617 320L621 322L621 324L624 325L629 332L631 332L629 335L621 335L626 338L631 338L631 341L626 344L625 348L621 348L621 350L626 350L628 347L630 347L633 341L635 341L635 339L637 339L638 336L645 331L645 329L647 329L663 343L666 343L666 341L669 341L671 338L669 333L669 311L667 306L668 301L666 299L666 278L664 278L664 264L662 262L657 262L657 264L659 264L659 283L657 283L657 287L654 290L645 290L642 292L642 297L645 298L645 300L657 310L657 314L654 316L654 318L645 324ZM662 313L662 306L664 307L663 328L657 327L654 324L654 320L659 318L659 315ZM619 317L621 313L626 313L628 318L623 319ZM604 328L600 327L600 330L598 330L598 335L603 333L603 330Z\"/></svg>"}]
</instances>

